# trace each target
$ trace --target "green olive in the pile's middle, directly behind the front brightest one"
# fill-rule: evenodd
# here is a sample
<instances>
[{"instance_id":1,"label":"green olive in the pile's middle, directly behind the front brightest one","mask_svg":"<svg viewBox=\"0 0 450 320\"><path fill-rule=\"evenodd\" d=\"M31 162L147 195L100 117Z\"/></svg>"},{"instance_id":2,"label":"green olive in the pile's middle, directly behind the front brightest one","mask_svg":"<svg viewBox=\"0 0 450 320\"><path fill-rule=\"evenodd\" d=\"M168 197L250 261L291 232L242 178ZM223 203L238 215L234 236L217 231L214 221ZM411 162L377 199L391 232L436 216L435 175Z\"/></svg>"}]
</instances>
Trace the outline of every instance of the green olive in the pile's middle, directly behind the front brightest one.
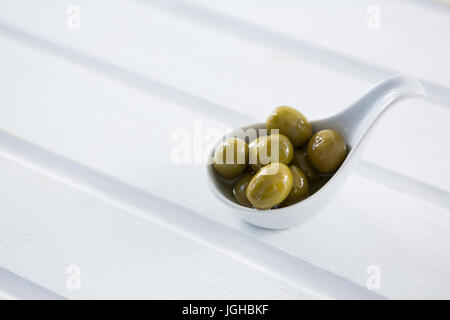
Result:
<instances>
[{"instance_id":1,"label":"green olive in the pile's middle, directly behind the front brightest one","mask_svg":"<svg viewBox=\"0 0 450 320\"><path fill-rule=\"evenodd\" d=\"M278 145L278 149L276 149ZM272 154L278 151L277 154ZM249 162L253 171L257 172L266 164L281 162L288 165L294 157L294 147L288 137L282 134L272 134L270 136L261 136L252 142L249 146Z\"/></svg>"}]
</instances>

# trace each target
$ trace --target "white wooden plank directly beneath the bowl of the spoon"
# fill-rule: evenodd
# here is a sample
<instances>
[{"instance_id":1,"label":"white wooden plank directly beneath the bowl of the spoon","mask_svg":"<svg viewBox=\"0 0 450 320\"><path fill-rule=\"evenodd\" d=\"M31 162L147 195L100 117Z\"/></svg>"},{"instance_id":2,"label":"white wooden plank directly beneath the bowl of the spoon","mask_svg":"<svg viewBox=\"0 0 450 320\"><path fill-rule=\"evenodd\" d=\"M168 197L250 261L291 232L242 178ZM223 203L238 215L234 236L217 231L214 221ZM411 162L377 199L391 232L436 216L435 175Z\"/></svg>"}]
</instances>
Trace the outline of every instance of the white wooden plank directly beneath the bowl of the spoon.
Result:
<instances>
[{"instance_id":1,"label":"white wooden plank directly beneath the bowl of the spoon","mask_svg":"<svg viewBox=\"0 0 450 320\"><path fill-rule=\"evenodd\" d=\"M308 224L280 232L250 227L212 196L201 165L171 163L174 129L191 129L194 121L211 128L224 124L65 58L4 37L1 41L8 47L0 78L7 97L0 117L4 130L361 286L367 267L379 265L389 280L379 291L386 297L447 297L442 283L450 283L445 281L450 276L445 267L450 259L448 210L352 177ZM19 88L27 88L27 94ZM168 122L167 114L177 116ZM295 272L285 270L284 275L294 277ZM441 285L437 275L444 279Z\"/></svg>"}]
</instances>

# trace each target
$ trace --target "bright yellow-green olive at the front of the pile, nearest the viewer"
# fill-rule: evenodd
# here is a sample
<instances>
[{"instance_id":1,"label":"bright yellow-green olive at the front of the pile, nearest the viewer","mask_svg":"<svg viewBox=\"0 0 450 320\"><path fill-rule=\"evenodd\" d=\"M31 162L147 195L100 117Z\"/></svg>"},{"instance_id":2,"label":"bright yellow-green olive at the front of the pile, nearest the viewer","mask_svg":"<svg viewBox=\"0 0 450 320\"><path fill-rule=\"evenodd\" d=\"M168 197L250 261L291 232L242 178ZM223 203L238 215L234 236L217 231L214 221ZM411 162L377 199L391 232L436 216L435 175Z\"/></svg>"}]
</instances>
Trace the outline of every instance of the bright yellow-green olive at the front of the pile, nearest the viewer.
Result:
<instances>
[{"instance_id":1,"label":"bright yellow-green olive at the front of the pile, nearest the viewer","mask_svg":"<svg viewBox=\"0 0 450 320\"><path fill-rule=\"evenodd\" d=\"M247 199L257 209L270 209L283 202L292 190L291 170L275 162L263 167L250 180Z\"/></svg>"}]
</instances>

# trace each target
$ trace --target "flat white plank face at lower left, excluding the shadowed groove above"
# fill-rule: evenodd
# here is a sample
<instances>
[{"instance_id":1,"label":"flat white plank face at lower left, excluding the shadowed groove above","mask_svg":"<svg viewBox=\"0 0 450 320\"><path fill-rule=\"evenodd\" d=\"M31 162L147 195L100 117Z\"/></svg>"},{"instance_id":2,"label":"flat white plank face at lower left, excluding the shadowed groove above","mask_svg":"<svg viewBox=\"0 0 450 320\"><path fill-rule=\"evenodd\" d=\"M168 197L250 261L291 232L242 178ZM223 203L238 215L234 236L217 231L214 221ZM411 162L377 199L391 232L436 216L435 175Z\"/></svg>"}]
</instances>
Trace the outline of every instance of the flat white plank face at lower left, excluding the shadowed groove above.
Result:
<instances>
[{"instance_id":1,"label":"flat white plank face at lower left, excluding the shadowed groove above","mask_svg":"<svg viewBox=\"0 0 450 320\"><path fill-rule=\"evenodd\" d=\"M186 237L3 157L1 163L1 265L61 296L304 298ZM67 286L70 266L80 268L79 289Z\"/></svg>"}]
</instances>

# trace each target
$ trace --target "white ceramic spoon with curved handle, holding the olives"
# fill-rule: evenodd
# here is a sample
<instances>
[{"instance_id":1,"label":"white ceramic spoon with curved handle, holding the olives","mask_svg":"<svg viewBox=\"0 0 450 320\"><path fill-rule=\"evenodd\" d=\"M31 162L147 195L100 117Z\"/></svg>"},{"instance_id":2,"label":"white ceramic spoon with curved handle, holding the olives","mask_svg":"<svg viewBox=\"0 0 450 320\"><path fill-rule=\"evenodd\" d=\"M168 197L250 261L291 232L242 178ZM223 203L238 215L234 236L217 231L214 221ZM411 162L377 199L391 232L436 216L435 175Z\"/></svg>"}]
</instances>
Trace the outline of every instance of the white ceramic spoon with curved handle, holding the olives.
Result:
<instances>
[{"instance_id":1,"label":"white ceramic spoon with curved handle, holding the olives","mask_svg":"<svg viewBox=\"0 0 450 320\"><path fill-rule=\"evenodd\" d=\"M241 219L263 228L282 229L302 223L319 213L339 191L359 157L368 134L386 109L404 99L425 94L423 86L416 79L407 76L389 78L362 96L342 112L331 117L311 121L313 132L323 129L337 130L347 142L349 153L344 163L333 177L309 198L289 207L256 210L236 203L230 183L226 183L214 171L210 163L214 150L209 154L207 176L210 186L219 200L225 203ZM265 129L265 123L249 125L239 129ZM226 138L233 137L237 131L230 132ZM223 140L219 141L217 147Z\"/></svg>"}]
</instances>

